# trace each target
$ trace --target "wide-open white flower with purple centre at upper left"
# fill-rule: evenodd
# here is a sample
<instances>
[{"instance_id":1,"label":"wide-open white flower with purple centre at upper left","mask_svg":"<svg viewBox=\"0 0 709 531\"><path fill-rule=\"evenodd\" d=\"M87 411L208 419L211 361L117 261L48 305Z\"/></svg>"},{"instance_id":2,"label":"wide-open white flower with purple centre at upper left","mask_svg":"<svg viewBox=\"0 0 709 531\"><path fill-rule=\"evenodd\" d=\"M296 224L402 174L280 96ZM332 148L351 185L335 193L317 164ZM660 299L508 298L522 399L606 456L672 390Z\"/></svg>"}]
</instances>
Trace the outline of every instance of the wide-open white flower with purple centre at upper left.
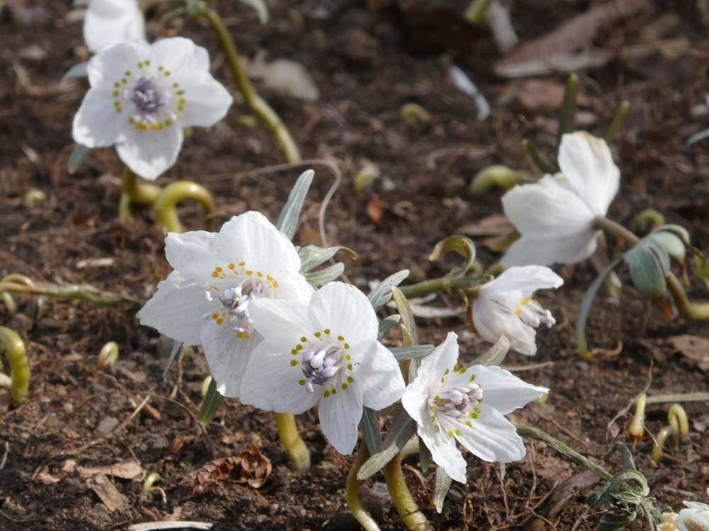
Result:
<instances>
[{"instance_id":1,"label":"wide-open white flower with purple centre at upper left","mask_svg":"<svg viewBox=\"0 0 709 531\"><path fill-rule=\"evenodd\" d=\"M177 160L185 127L213 125L232 103L209 74L207 50L185 38L118 42L86 70L91 89L74 116L74 141L116 144L128 168L151 181Z\"/></svg>"}]
</instances>

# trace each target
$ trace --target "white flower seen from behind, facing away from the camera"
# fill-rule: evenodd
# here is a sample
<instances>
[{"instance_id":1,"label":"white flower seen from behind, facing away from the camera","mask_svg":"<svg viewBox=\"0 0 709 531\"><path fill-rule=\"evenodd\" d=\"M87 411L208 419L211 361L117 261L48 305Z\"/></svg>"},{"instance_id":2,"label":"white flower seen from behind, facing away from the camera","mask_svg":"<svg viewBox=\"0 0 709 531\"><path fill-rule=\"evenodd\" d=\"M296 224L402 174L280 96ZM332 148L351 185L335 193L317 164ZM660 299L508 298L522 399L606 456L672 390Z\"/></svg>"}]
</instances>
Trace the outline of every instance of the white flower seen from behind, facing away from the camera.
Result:
<instances>
[{"instance_id":1,"label":"white flower seen from behind, facing away from the camera","mask_svg":"<svg viewBox=\"0 0 709 531\"><path fill-rule=\"evenodd\" d=\"M577 263L596 251L601 231L593 219L608 212L620 170L605 140L583 131L562 137L559 167L561 173L503 195L505 215L521 235L502 257L506 268Z\"/></svg>"}]
</instances>

